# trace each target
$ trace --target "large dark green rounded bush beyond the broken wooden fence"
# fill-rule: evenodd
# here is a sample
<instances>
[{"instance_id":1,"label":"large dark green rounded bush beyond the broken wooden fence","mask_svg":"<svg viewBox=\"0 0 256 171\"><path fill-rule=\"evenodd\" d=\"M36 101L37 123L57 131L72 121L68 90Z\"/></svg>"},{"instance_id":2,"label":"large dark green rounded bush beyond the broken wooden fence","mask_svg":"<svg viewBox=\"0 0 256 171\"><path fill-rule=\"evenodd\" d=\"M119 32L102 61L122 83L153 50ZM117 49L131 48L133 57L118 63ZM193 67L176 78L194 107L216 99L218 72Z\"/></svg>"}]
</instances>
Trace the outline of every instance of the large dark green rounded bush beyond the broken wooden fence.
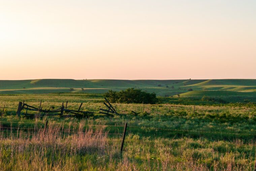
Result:
<instances>
[{"instance_id":1,"label":"large dark green rounded bush beyond the broken wooden fence","mask_svg":"<svg viewBox=\"0 0 256 171\"><path fill-rule=\"evenodd\" d=\"M104 94L111 103L144 103L156 104L159 102L156 94L146 93L139 89L129 88L125 91L114 92L109 90Z\"/></svg>"}]
</instances>

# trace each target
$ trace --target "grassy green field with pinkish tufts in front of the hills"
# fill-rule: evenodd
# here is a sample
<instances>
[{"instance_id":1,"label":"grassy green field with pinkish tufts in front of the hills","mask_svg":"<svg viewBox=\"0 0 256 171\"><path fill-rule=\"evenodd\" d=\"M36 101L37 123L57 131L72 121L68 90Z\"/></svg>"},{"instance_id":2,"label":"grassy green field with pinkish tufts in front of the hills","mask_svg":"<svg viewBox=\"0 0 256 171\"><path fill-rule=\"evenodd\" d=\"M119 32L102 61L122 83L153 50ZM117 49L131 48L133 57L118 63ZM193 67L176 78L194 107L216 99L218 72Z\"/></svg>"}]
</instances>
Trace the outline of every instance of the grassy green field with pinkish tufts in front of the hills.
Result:
<instances>
[{"instance_id":1,"label":"grassy green field with pinkish tufts in front of the hills","mask_svg":"<svg viewBox=\"0 0 256 171\"><path fill-rule=\"evenodd\" d=\"M68 109L76 110L83 102L84 110L95 114L85 119L17 118L18 102L23 100L36 107L42 100L43 108L58 108L69 101ZM172 98L162 100L171 102ZM195 101L198 105L194 106L164 102L145 107L113 104L117 105L120 116L112 118L99 114L99 108L104 108L103 101L101 94L86 93L0 95L0 111L6 106L1 123L9 128L2 129L4 133L0 134L0 167L2 170L254 169L256 105L253 103ZM43 134L46 119L49 126ZM120 155L125 123L128 123L127 136ZM66 133L56 133L63 130Z\"/></svg>"}]
</instances>

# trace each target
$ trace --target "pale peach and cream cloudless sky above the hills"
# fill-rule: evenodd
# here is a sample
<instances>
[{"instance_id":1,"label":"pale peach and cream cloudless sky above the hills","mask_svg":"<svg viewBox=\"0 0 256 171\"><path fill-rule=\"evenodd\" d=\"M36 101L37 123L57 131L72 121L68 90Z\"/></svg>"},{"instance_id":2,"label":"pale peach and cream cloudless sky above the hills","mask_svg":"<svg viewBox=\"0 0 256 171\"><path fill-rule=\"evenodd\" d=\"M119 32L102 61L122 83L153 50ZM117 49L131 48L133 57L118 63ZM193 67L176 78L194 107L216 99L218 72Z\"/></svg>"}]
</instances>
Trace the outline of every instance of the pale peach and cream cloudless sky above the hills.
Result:
<instances>
[{"instance_id":1,"label":"pale peach and cream cloudless sky above the hills","mask_svg":"<svg viewBox=\"0 0 256 171\"><path fill-rule=\"evenodd\" d=\"M0 80L256 79L255 0L0 0Z\"/></svg>"}]
</instances>

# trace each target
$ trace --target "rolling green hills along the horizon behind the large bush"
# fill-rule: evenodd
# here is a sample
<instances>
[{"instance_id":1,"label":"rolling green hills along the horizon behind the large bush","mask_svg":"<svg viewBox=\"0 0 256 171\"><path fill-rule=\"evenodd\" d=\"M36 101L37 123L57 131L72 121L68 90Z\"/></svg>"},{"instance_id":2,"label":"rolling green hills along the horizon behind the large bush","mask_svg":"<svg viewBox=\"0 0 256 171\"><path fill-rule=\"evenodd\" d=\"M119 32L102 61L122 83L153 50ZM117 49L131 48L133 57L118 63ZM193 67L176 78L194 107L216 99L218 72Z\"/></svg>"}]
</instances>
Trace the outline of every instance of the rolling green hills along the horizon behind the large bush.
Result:
<instances>
[{"instance_id":1,"label":"rolling green hills along the horizon behind the large bush","mask_svg":"<svg viewBox=\"0 0 256 171\"><path fill-rule=\"evenodd\" d=\"M83 88L83 90L82 90ZM158 96L202 98L203 96L256 102L256 79L201 80L110 80L35 79L0 80L0 94L43 94L60 92L105 93L138 88ZM188 91L192 89L193 91Z\"/></svg>"}]
</instances>

